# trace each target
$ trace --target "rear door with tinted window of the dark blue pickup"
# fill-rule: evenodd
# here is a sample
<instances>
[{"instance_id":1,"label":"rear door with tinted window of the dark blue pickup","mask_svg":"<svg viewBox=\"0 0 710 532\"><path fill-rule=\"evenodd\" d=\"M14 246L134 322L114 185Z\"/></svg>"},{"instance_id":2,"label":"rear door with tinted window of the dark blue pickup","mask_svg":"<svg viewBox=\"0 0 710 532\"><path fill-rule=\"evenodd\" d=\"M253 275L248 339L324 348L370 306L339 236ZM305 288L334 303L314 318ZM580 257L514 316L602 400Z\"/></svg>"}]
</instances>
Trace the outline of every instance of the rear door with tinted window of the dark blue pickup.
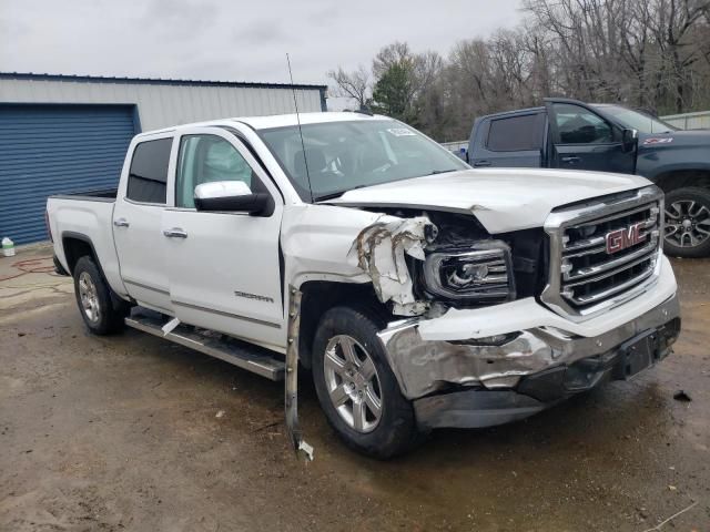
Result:
<instances>
[{"instance_id":1,"label":"rear door with tinted window of the dark blue pickup","mask_svg":"<svg viewBox=\"0 0 710 532\"><path fill-rule=\"evenodd\" d=\"M474 167L542 165L546 117L544 112L494 117L478 132L478 147L469 163Z\"/></svg>"}]
</instances>

